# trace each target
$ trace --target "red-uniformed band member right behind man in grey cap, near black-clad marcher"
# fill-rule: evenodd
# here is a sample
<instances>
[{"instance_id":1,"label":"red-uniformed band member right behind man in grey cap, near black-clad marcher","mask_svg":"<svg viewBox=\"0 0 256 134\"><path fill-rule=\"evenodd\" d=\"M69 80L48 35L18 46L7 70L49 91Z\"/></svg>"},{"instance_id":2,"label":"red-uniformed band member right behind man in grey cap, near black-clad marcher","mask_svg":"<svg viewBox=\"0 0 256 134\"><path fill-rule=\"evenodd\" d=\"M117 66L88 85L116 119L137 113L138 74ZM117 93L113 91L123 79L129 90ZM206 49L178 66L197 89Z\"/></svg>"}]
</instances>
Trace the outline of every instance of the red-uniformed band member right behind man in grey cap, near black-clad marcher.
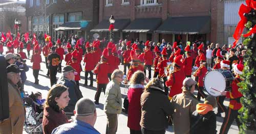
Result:
<instances>
[{"instance_id":1,"label":"red-uniformed band member right behind man in grey cap, near black-clad marcher","mask_svg":"<svg viewBox=\"0 0 256 134\"><path fill-rule=\"evenodd\" d=\"M69 63L69 65L72 66L76 70L75 82L76 82L77 87L79 88L80 72L82 71L82 68L81 68L80 62L78 61L78 52L77 52L77 50L74 50L72 52L72 62Z\"/></svg>"}]
</instances>

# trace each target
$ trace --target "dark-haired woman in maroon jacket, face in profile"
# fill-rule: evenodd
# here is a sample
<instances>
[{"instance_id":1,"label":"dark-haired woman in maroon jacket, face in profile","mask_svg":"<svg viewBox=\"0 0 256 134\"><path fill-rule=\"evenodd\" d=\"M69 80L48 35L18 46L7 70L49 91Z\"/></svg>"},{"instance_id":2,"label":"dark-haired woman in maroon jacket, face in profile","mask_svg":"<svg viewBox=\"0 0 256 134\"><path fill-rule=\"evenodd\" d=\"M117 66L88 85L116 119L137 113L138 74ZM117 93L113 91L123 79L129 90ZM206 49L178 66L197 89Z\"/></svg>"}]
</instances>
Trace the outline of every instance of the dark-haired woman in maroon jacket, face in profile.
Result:
<instances>
[{"instance_id":1,"label":"dark-haired woman in maroon jacket, face in profile","mask_svg":"<svg viewBox=\"0 0 256 134\"><path fill-rule=\"evenodd\" d=\"M68 118L63 109L69 104L69 91L66 86L53 85L50 89L42 117L42 128L44 134L52 133L59 125L68 123Z\"/></svg>"}]
</instances>

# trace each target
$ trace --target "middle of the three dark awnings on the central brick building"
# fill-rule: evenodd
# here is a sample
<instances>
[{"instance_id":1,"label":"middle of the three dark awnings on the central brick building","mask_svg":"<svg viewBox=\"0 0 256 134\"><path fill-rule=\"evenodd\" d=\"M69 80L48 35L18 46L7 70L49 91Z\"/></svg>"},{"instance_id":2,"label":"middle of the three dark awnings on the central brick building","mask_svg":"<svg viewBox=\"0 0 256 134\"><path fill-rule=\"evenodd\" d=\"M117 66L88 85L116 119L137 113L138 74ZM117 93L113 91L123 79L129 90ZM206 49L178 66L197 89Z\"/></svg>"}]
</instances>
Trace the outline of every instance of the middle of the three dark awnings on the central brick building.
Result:
<instances>
[{"instance_id":1,"label":"middle of the three dark awnings on the central brick building","mask_svg":"<svg viewBox=\"0 0 256 134\"><path fill-rule=\"evenodd\" d=\"M123 32L146 33L154 32L161 24L161 18L140 18L131 22Z\"/></svg>"}]
</instances>

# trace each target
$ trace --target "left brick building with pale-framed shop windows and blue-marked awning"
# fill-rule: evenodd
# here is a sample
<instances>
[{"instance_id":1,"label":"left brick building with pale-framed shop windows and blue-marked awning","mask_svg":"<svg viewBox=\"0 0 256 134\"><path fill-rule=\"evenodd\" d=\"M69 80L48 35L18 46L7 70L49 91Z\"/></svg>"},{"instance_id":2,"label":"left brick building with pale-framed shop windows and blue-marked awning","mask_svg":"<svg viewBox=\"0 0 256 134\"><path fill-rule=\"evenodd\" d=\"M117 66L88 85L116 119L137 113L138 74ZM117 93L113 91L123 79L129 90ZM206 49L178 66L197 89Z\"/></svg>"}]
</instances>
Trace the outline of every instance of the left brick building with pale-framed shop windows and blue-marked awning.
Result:
<instances>
[{"instance_id":1,"label":"left brick building with pale-framed shop windows and blue-marked awning","mask_svg":"<svg viewBox=\"0 0 256 134\"><path fill-rule=\"evenodd\" d=\"M95 0L27 0L26 16L31 33L87 37L98 24L99 1ZM46 20L46 21L45 21Z\"/></svg>"}]
</instances>

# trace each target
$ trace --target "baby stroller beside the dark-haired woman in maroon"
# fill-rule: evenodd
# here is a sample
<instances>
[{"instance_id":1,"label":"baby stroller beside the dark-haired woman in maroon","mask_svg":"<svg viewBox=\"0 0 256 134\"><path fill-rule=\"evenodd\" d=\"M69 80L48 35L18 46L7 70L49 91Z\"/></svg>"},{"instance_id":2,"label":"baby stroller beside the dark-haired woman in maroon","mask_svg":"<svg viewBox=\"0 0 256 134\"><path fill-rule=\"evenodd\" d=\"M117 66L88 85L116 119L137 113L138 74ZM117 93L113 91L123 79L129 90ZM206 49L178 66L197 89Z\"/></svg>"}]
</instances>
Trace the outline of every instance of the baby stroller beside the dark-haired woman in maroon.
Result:
<instances>
[{"instance_id":1,"label":"baby stroller beside the dark-haired woman in maroon","mask_svg":"<svg viewBox=\"0 0 256 134\"><path fill-rule=\"evenodd\" d=\"M37 109L40 108L41 105L36 103L32 97L33 96L31 95L28 96L28 93L25 93L25 97L23 98L23 102L26 110L24 129L27 133L41 134L42 133L41 118L43 116L43 112L40 111L40 113L38 113Z\"/></svg>"}]
</instances>

